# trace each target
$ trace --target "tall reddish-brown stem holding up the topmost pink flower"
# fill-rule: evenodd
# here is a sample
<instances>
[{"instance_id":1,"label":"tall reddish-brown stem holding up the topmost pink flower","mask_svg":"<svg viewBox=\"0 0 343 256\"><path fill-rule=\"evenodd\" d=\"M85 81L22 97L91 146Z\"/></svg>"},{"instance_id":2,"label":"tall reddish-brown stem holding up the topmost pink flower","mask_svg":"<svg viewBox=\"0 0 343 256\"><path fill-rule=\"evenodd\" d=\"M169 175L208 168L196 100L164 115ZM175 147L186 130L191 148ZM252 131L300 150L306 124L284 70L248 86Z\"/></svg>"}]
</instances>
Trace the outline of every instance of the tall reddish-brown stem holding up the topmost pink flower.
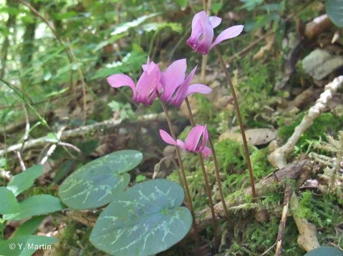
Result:
<instances>
[{"instance_id":1,"label":"tall reddish-brown stem holding up the topmost pink flower","mask_svg":"<svg viewBox=\"0 0 343 256\"><path fill-rule=\"evenodd\" d=\"M243 125L241 113L240 113L240 110L239 110L239 105L238 105L238 100L237 100L235 88L234 88L234 85L233 85L232 80L230 78L230 74L228 73L228 70L227 70L227 68L225 66L225 62L223 60L223 56L221 55L219 47L215 46L214 48L216 50L219 62L220 62L221 66L223 68L223 71L225 73L228 85L230 86L230 91L231 91L232 97L234 99L235 109L236 109L236 112L237 112L237 119L238 119L239 127L240 127L241 134L242 134L242 139L243 139L243 146L244 146L246 163L247 163L247 167L249 169L252 197L254 198L256 196L256 193L255 193L255 182L254 182L253 167L251 166L250 155L249 155L249 148L247 147L247 143L246 143L244 125Z\"/></svg>"}]
</instances>

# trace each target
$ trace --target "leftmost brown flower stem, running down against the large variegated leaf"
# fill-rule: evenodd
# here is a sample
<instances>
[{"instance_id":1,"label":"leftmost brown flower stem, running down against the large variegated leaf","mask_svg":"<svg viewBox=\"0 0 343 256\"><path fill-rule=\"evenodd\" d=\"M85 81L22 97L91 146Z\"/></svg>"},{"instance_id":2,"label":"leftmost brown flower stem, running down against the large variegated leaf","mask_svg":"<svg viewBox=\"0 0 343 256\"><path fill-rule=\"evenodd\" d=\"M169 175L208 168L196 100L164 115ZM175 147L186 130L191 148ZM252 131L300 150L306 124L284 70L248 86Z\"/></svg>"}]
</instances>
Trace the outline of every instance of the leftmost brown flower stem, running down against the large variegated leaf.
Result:
<instances>
[{"instance_id":1,"label":"leftmost brown flower stem, running down against the large variegated leaf","mask_svg":"<svg viewBox=\"0 0 343 256\"><path fill-rule=\"evenodd\" d=\"M176 135L175 135L175 131L174 131L174 128L173 128L172 119L169 116L167 107L166 107L166 105L164 104L164 102L160 98L159 98L159 100L160 100L162 109L164 111L165 117L167 119L170 133L172 134L173 139L176 140ZM183 183L183 187L185 189L185 194L186 194L186 198L187 198L188 207L189 207L190 213L192 214L192 217L193 217L193 220L194 220L194 229L197 232L197 224L196 224L196 221L195 221L195 214L194 214L194 209L193 209L192 198L190 197L189 187L188 187L188 183L187 183L187 178L186 178L185 170L184 170L184 167L183 167L183 164L182 164L182 160L181 160L180 148L178 146L175 146L175 150L176 150L176 155L177 155L177 158L178 158L179 166L180 166L180 169L181 169L182 183Z\"/></svg>"}]
</instances>

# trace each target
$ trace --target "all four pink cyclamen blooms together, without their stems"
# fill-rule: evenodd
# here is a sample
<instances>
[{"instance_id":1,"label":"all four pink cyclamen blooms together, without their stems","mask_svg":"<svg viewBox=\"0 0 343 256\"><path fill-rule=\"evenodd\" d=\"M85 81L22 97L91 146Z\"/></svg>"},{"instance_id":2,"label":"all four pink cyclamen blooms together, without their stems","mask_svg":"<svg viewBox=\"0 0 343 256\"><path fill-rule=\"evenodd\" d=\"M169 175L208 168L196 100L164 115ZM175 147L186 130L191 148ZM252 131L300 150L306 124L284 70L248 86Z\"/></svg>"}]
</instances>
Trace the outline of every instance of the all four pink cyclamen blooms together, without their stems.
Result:
<instances>
[{"instance_id":1,"label":"all four pink cyclamen blooms together, without their stems","mask_svg":"<svg viewBox=\"0 0 343 256\"><path fill-rule=\"evenodd\" d=\"M221 18L216 16L208 17L206 12L201 11L195 14L192 21L192 33L187 44L195 52L207 54L214 46L221 41L238 36L243 26L233 26L221 32L215 40L214 28L221 23ZM148 58L146 64L142 65L143 73L135 84L129 76L114 74L107 78L111 87L119 88L128 86L132 90L132 100L146 105L151 105L159 97L169 104L180 107L184 99L193 93L208 94L212 89L201 83L190 84L196 72L195 67L186 77L186 59L174 61L164 72L162 72L154 61ZM202 153L205 157L211 154L206 147L208 132L206 125L197 125L190 130L185 142L174 140L168 133L160 130L161 138L168 144L184 148L186 151Z\"/></svg>"}]
</instances>

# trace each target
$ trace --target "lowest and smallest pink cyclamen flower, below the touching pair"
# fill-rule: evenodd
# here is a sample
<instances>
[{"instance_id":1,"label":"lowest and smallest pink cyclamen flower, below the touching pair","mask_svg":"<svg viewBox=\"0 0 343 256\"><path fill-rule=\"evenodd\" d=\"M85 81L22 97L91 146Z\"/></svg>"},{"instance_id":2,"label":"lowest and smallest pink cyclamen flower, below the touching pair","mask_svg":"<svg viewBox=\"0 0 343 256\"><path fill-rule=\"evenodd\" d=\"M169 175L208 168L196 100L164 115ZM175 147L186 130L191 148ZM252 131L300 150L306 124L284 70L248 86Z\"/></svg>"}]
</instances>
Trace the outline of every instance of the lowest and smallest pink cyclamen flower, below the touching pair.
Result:
<instances>
[{"instance_id":1,"label":"lowest and smallest pink cyclamen flower, below the touching pair","mask_svg":"<svg viewBox=\"0 0 343 256\"><path fill-rule=\"evenodd\" d=\"M164 142L184 148L186 151L202 153L204 157L211 155L211 150L206 147L208 140L208 132L206 125L196 125L189 131L185 142L182 140L174 140L167 132L160 130L160 135ZM202 140L201 140L202 137Z\"/></svg>"}]
</instances>

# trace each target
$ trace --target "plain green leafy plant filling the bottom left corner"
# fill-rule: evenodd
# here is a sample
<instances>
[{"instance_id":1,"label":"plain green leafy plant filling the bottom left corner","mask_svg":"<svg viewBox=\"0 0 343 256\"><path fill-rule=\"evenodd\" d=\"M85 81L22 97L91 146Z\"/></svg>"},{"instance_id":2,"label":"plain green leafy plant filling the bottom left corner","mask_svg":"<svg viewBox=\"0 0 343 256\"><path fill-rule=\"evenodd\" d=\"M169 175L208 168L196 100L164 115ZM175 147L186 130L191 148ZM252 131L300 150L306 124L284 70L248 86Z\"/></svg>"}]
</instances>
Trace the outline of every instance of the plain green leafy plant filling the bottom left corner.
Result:
<instances>
[{"instance_id":1,"label":"plain green leafy plant filling the bottom left corner","mask_svg":"<svg viewBox=\"0 0 343 256\"><path fill-rule=\"evenodd\" d=\"M31 255L43 245L51 246L57 239L34 236L32 233L41 224L44 217L65 208L59 198L51 195L34 195L17 202L16 197L30 188L34 180L42 175L43 165L34 165L15 175L6 187L0 187L0 252L4 255ZM4 240L4 228L7 221L19 221L30 218L16 229L10 239ZM34 246L31 246L34 245ZM41 246L41 247L40 247Z\"/></svg>"}]
</instances>

